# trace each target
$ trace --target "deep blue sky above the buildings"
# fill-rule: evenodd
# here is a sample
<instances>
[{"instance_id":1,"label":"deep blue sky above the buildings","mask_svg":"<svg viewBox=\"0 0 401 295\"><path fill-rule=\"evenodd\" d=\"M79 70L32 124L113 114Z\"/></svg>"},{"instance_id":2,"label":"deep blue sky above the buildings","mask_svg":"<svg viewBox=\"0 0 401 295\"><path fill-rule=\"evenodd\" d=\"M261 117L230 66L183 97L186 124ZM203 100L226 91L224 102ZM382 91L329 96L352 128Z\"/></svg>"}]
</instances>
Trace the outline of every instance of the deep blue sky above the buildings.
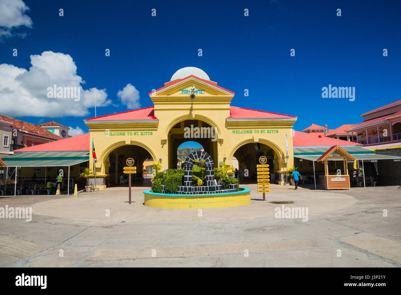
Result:
<instances>
[{"instance_id":1,"label":"deep blue sky above the buildings","mask_svg":"<svg viewBox=\"0 0 401 295\"><path fill-rule=\"evenodd\" d=\"M130 109L117 96L127 84L139 91L136 106L152 106L148 93L188 66L203 69L211 80L235 92L233 106L298 116L295 130L312 123L328 124L330 129L355 124L362 121L363 112L401 99L399 1L24 3L31 24L3 23L9 36L0 43L0 64L29 70L30 55L40 57L45 51L70 55L76 75L86 82L83 89L103 90L98 92L103 106L97 108L97 116ZM64 16L59 16L59 8ZM156 17L151 16L152 8ZM244 16L245 8L249 16ZM337 8L341 16L336 16ZM13 49L18 56L12 55ZM105 49L110 49L109 57ZM290 49L295 49L294 57ZM387 57L383 49L388 50ZM51 70L52 65L39 61L39 69ZM36 72L40 71L21 80L24 85L34 80ZM355 100L322 98L322 87L329 84L355 87ZM249 97L244 97L244 89ZM26 99L37 95L31 92ZM95 116L90 105L82 106L87 112L83 116L80 109L71 116L56 111L58 106L53 112L51 105L39 114L23 101L18 108L8 108L16 99L5 94L4 85L0 99L0 114L35 124L55 120L87 132L82 120ZM65 106L69 108L74 106ZM36 116L28 116L29 110Z\"/></svg>"}]
</instances>

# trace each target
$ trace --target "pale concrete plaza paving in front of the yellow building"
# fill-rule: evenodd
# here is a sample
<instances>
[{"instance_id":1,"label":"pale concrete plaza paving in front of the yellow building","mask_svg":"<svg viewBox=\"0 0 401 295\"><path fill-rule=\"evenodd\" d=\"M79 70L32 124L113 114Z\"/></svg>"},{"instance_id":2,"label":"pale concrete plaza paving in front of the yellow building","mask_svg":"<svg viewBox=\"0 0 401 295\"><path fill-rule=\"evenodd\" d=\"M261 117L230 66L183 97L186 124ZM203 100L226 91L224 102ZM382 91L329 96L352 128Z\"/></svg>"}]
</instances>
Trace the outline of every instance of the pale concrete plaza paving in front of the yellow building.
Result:
<instances>
[{"instance_id":1,"label":"pale concrete plaza paving in front of the yellow building","mask_svg":"<svg viewBox=\"0 0 401 295\"><path fill-rule=\"evenodd\" d=\"M401 189L313 190L271 185L266 201L170 210L143 205L146 188L0 197L32 221L0 219L1 267L399 267ZM275 208L308 208L308 220ZM387 212L387 216L384 214ZM109 213L109 214L108 214Z\"/></svg>"}]
</instances>

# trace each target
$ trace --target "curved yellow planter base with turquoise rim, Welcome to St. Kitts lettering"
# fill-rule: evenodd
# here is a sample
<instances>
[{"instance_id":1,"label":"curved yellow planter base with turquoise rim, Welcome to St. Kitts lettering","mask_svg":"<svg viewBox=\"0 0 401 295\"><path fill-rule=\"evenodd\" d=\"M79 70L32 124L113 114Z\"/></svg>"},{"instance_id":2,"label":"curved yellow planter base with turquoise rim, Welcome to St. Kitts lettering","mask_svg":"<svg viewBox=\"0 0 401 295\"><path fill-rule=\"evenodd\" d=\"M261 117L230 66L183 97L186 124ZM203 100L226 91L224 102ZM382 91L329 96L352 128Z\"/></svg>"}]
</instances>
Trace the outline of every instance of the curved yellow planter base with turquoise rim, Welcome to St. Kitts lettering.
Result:
<instances>
[{"instance_id":1,"label":"curved yellow planter base with turquoise rim, Welcome to St. Kitts lettering","mask_svg":"<svg viewBox=\"0 0 401 295\"><path fill-rule=\"evenodd\" d=\"M242 190L241 190L242 189ZM251 202L251 189L240 187L233 193L174 194L144 191L145 206L166 209L206 209L247 205Z\"/></svg>"}]
</instances>

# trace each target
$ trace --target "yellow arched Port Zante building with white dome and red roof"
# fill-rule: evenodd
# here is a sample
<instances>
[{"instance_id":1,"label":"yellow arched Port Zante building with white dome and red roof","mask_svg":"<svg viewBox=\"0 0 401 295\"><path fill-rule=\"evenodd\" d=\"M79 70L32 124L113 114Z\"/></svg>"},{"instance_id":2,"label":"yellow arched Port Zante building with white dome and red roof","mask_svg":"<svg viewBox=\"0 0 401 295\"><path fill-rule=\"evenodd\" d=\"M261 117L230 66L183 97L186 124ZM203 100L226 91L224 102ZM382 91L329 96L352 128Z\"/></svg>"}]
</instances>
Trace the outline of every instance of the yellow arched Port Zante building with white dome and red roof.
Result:
<instances>
[{"instance_id":1,"label":"yellow arched Port Zante building with white dome and red roof","mask_svg":"<svg viewBox=\"0 0 401 295\"><path fill-rule=\"evenodd\" d=\"M160 161L163 168L176 168L178 146L186 141L201 144L215 167L222 162L231 165L235 157L240 168L248 169L249 177L264 155L272 182L284 184L286 134L288 166L292 166L290 135L297 117L231 106L234 92L195 67L179 69L149 95L152 107L84 120L95 143L100 189L105 188L106 177L110 184L119 182L128 158L138 168L149 157ZM92 156L89 161L93 167ZM137 171L141 177L141 169Z\"/></svg>"}]
</instances>

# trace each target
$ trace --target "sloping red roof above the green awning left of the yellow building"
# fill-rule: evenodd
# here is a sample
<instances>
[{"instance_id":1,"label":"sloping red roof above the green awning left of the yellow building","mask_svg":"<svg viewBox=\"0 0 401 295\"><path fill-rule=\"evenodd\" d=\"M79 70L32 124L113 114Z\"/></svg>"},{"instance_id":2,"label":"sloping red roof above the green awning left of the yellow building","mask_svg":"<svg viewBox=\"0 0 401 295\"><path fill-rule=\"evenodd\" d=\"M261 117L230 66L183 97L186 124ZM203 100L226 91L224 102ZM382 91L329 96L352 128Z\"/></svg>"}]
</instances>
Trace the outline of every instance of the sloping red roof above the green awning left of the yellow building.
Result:
<instances>
[{"instance_id":1,"label":"sloping red roof above the green awning left of the yellow building","mask_svg":"<svg viewBox=\"0 0 401 295\"><path fill-rule=\"evenodd\" d=\"M14 153L18 152L64 152L64 151L88 151L90 147L90 136L89 133L77 135L61 140L29 146L24 149L14 150ZM96 142L95 142L96 148Z\"/></svg>"}]
</instances>

